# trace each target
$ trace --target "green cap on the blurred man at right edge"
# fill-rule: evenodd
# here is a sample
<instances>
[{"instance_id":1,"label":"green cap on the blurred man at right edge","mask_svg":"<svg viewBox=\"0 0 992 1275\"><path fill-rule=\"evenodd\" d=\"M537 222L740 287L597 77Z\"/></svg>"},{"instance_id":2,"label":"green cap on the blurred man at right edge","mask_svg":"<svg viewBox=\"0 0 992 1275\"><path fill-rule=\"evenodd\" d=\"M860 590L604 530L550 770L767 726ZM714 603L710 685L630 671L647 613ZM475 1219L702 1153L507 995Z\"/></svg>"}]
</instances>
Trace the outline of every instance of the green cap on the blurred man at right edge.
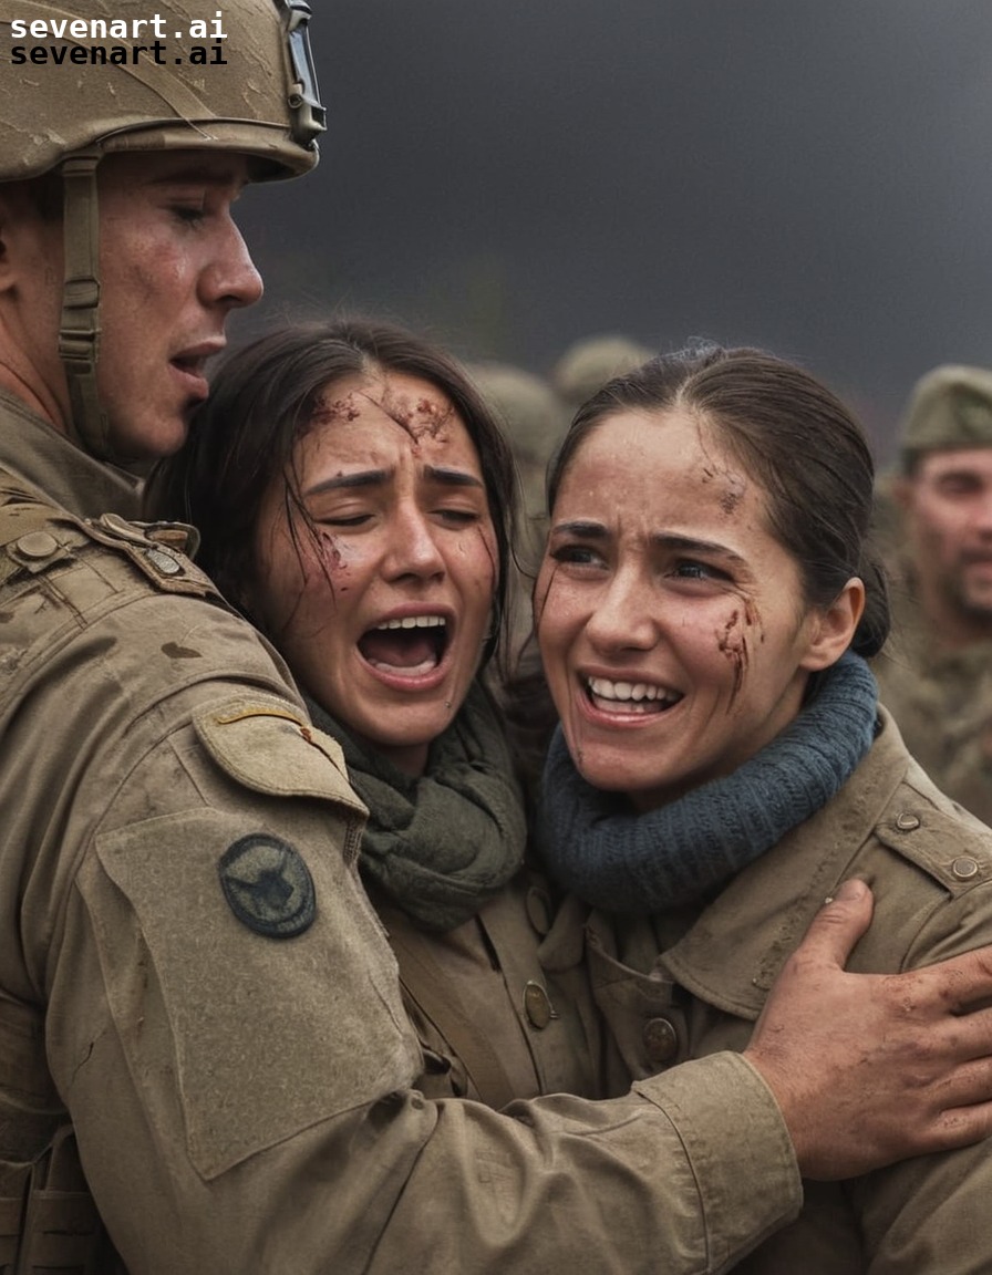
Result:
<instances>
[{"instance_id":1,"label":"green cap on the blurred man at right edge","mask_svg":"<svg viewBox=\"0 0 992 1275\"><path fill-rule=\"evenodd\" d=\"M903 470L928 451L961 448L992 448L992 371L949 363L913 386L903 416Z\"/></svg>"}]
</instances>

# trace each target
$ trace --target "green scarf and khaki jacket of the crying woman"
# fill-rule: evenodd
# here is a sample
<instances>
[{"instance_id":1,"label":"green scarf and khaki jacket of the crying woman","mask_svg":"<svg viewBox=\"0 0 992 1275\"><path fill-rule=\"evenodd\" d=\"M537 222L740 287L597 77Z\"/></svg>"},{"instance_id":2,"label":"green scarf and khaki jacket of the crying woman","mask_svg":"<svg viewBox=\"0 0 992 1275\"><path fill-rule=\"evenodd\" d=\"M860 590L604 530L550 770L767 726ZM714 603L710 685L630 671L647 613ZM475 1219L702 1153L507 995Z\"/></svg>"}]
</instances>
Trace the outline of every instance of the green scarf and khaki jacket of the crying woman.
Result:
<instances>
[{"instance_id":1,"label":"green scarf and khaki jacket of the crying woman","mask_svg":"<svg viewBox=\"0 0 992 1275\"><path fill-rule=\"evenodd\" d=\"M524 863L524 797L487 691L469 690L419 775L306 703L340 743L368 808L358 871L386 927L423 1053L414 1088L495 1108L538 1094L599 1096L602 1037L588 982L541 964L555 900Z\"/></svg>"}]
</instances>

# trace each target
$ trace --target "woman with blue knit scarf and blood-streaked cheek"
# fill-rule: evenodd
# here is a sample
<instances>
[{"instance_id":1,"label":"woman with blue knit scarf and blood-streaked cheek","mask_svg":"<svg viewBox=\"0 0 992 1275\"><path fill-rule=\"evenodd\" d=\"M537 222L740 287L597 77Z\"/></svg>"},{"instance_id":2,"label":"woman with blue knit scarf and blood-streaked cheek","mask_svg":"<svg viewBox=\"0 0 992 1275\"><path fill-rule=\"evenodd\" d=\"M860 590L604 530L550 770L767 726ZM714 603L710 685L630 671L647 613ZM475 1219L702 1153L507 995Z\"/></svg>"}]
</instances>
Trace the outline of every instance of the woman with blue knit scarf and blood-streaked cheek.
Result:
<instances>
[{"instance_id":1,"label":"woman with blue knit scarf and blood-streaked cheek","mask_svg":"<svg viewBox=\"0 0 992 1275\"><path fill-rule=\"evenodd\" d=\"M845 877L876 896L850 969L992 938L992 833L908 755L866 663L889 630L872 482L862 431L821 384L715 347L611 381L552 463L534 615L560 725L542 852L592 909L618 1090L745 1048ZM989 1193L981 1144L807 1183L799 1219L737 1269L988 1271Z\"/></svg>"}]
</instances>

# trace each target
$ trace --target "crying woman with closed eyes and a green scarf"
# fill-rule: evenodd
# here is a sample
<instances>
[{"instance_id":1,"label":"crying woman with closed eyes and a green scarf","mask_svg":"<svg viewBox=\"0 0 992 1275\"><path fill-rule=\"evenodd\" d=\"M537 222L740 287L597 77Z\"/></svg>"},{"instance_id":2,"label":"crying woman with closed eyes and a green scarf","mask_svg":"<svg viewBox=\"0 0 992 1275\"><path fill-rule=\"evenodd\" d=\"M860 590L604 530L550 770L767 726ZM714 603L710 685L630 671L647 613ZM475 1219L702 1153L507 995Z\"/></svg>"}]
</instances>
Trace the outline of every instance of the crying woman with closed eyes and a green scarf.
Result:
<instances>
[{"instance_id":1,"label":"crying woman with closed eyes and a green scarf","mask_svg":"<svg viewBox=\"0 0 992 1275\"><path fill-rule=\"evenodd\" d=\"M459 366L391 325L291 325L231 357L152 483L279 650L368 807L358 866L425 1056L492 1107L593 1095L595 1028L527 866L483 671L509 623L513 459ZM585 1006L583 1011L581 1006Z\"/></svg>"}]
</instances>

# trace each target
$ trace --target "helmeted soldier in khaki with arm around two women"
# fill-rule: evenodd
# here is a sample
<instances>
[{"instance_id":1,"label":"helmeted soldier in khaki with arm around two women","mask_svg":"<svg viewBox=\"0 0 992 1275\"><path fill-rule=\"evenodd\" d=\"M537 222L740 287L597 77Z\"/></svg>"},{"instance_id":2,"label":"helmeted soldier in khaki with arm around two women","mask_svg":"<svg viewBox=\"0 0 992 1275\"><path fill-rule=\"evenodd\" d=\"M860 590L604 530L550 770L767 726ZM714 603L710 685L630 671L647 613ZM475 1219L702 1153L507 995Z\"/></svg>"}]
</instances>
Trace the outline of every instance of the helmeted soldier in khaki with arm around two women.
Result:
<instances>
[{"instance_id":1,"label":"helmeted soldier in khaki with arm around two women","mask_svg":"<svg viewBox=\"0 0 992 1275\"><path fill-rule=\"evenodd\" d=\"M112 1269L82 1162L133 1275L719 1271L799 1169L988 1132L992 1015L952 1012L988 958L844 974L856 882L745 1054L506 1114L409 1089L340 752L121 468L180 444L259 296L235 198L316 161L309 10L236 0L204 68L157 8L144 60L101 60L87 0L0 79L0 1265Z\"/></svg>"}]
</instances>

